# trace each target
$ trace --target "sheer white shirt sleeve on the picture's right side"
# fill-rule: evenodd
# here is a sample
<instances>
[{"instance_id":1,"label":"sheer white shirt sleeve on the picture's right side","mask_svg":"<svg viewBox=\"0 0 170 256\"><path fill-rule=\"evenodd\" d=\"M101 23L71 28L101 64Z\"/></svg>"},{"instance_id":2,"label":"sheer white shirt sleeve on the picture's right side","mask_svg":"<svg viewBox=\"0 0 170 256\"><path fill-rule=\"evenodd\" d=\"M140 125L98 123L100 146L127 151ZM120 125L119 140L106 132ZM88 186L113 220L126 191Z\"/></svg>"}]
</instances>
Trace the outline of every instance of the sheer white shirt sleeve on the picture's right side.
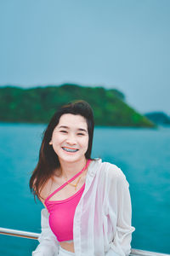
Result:
<instances>
[{"instance_id":1,"label":"sheer white shirt sleeve on the picture's right side","mask_svg":"<svg viewBox=\"0 0 170 256\"><path fill-rule=\"evenodd\" d=\"M113 226L116 226L116 231L114 239L111 241L110 250L106 255L127 256L131 252L132 232L135 229L131 225L132 206L129 184L123 174L116 177L111 184L109 195L109 215Z\"/></svg>"}]
</instances>

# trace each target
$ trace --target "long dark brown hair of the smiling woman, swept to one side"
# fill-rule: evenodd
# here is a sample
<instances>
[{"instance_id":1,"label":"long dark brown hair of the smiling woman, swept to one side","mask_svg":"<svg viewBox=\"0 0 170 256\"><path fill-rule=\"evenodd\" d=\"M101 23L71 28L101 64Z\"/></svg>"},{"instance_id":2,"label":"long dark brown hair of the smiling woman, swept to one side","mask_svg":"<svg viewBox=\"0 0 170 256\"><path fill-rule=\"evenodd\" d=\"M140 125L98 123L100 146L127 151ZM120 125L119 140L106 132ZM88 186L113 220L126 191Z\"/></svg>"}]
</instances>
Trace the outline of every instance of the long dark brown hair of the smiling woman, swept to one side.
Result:
<instances>
[{"instance_id":1,"label":"long dark brown hair of the smiling woman, swept to one side","mask_svg":"<svg viewBox=\"0 0 170 256\"><path fill-rule=\"evenodd\" d=\"M48 179L53 176L57 168L59 168L59 158L54 152L54 148L49 145L54 128L59 124L61 115L65 113L72 113L82 115L87 121L88 125L88 150L85 153L86 159L91 159L92 143L94 137L94 114L93 110L84 101L70 102L65 106L59 108L52 119L49 121L47 129L43 132L42 145L39 152L39 160L35 170L32 172L30 179L30 189L34 196L40 199L41 189Z\"/></svg>"}]
</instances>

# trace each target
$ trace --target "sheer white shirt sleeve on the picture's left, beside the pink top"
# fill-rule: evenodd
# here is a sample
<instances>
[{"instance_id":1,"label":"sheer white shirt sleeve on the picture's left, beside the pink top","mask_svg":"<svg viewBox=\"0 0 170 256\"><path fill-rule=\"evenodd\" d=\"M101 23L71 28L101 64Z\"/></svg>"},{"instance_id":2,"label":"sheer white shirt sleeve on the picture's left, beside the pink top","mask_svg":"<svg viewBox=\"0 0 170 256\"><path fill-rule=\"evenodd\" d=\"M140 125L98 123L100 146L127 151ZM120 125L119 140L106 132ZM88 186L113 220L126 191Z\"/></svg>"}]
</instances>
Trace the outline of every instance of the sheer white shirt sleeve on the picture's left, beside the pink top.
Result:
<instances>
[{"instance_id":1,"label":"sheer white shirt sleeve on the picture's left, beside the pink top","mask_svg":"<svg viewBox=\"0 0 170 256\"><path fill-rule=\"evenodd\" d=\"M55 256L59 252L59 241L57 241L54 233L48 224L48 211L42 209L41 214L42 233L38 237L40 242L36 250L32 252L32 256Z\"/></svg>"}]
</instances>

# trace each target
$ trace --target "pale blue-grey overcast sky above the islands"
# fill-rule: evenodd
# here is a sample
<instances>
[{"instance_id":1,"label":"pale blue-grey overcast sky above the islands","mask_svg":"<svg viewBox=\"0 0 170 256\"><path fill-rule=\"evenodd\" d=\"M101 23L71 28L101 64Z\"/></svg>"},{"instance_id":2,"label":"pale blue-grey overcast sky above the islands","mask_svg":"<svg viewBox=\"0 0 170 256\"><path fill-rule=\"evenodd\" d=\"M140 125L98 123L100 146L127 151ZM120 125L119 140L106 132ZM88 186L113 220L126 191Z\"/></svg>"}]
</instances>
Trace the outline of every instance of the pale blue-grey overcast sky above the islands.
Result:
<instances>
[{"instance_id":1,"label":"pale blue-grey overcast sky above the islands","mask_svg":"<svg viewBox=\"0 0 170 256\"><path fill-rule=\"evenodd\" d=\"M170 114L169 0L0 0L0 86L121 90Z\"/></svg>"}]
</instances>

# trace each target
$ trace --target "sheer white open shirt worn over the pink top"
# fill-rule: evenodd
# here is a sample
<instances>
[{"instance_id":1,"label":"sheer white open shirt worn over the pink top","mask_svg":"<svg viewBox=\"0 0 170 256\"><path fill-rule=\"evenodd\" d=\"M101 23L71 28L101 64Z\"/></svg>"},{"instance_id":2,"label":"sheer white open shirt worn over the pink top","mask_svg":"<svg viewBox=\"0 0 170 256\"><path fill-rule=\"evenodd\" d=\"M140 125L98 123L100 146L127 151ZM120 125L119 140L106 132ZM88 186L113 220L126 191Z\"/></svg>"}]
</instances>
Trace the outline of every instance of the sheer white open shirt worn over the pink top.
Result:
<instances>
[{"instance_id":1,"label":"sheer white open shirt worn over the pink top","mask_svg":"<svg viewBox=\"0 0 170 256\"><path fill-rule=\"evenodd\" d=\"M132 208L129 184L121 169L93 160L73 222L75 256L125 256L130 253ZM55 256L59 242L42 210L42 233L32 256Z\"/></svg>"}]
</instances>

